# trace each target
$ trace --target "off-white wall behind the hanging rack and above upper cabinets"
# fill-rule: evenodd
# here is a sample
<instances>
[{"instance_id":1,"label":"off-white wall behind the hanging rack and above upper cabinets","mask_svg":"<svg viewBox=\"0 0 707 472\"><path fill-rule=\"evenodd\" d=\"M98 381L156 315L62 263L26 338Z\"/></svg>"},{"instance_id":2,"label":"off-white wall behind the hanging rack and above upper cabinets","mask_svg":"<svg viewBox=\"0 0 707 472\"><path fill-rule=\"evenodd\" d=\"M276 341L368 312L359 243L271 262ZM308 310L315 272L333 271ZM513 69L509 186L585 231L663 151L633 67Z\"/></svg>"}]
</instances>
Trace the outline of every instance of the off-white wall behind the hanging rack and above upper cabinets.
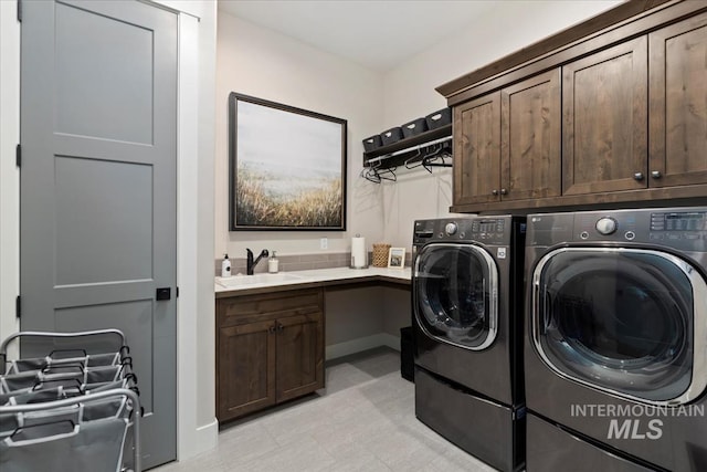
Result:
<instances>
[{"instance_id":1,"label":"off-white wall behind the hanging rack and above upper cabinets","mask_svg":"<svg viewBox=\"0 0 707 472\"><path fill-rule=\"evenodd\" d=\"M383 128L446 106L434 88L621 3L499 1L475 23L421 52L384 76ZM452 204L451 170L401 172L383 185L384 239L410 248L416 218L442 218Z\"/></svg>"}]
</instances>

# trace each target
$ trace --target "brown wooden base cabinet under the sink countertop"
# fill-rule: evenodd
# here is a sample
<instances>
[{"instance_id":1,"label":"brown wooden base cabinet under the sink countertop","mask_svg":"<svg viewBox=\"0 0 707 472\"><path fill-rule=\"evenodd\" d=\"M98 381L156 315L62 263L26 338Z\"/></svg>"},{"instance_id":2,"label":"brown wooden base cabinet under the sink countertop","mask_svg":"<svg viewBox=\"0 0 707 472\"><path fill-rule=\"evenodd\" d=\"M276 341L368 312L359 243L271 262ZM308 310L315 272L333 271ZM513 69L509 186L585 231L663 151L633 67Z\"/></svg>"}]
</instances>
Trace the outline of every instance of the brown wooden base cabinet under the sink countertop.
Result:
<instances>
[{"instance_id":1,"label":"brown wooden base cabinet under the sink countertop","mask_svg":"<svg viewBox=\"0 0 707 472\"><path fill-rule=\"evenodd\" d=\"M217 416L228 421L324 388L324 292L217 298Z\"/></svg>"}]
</instances>

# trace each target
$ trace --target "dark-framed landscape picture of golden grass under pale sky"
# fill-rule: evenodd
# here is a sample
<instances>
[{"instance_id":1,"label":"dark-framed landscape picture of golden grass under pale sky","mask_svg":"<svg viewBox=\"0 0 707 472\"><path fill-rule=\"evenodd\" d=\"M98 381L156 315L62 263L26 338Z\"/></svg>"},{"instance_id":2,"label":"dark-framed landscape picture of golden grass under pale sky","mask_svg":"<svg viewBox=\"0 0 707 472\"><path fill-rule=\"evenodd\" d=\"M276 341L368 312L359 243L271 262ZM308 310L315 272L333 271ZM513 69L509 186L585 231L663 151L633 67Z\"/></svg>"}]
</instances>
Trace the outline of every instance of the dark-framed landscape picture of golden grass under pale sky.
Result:
<instances>
[{"instance_id":1,"label":"dark-framed landscape picture of golden grass under pale sky","mask_svg":"<svg viewBox=\"0 0 707 472\"><path fill-rule=\"evenodd\" d=\"M232 92L229 154L230 231L346 231L346 119Z\"/></svg>"}]
</instances>

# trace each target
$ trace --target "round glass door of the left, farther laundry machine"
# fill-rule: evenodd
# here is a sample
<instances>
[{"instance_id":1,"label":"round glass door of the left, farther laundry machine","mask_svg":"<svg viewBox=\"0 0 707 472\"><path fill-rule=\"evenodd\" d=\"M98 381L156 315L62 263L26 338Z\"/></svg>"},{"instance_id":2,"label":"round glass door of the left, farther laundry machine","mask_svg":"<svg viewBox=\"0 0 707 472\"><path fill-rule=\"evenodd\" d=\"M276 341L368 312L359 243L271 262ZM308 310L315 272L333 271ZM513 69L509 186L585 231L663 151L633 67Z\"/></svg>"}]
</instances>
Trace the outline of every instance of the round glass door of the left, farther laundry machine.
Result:
<instances>
[{"instance_id":1,"label":"round glass door of the left, farther laundry machine","mask_svg":"<svg viewBox=\"0 0 707 472\"><path fill-rule=\"evenodd\" d=\"M498 270L472 244L429 244L415 259L413 306L422 331L442 343L481 350L496 338Z\"/></svg>"}]
</instances>

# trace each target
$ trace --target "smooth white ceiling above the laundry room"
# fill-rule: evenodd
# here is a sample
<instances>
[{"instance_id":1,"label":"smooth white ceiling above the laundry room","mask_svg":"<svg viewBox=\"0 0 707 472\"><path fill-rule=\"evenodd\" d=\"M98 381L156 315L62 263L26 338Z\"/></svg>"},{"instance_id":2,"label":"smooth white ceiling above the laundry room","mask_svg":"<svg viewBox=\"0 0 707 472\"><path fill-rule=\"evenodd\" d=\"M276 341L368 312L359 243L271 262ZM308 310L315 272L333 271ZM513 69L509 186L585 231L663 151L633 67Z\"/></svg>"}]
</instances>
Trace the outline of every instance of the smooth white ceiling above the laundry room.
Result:
<instances>
[{"instance_id":1,"label":"smooth white ceiling above the laundry room","mask_svg":"<svg viewBox=\"0 0 707 472\"><path fill-rule=\"evenodd\" d=\"M219 10L376 71L394 69L490 10L490 0L219 0Z\"/></svg>"}]
</instances>

